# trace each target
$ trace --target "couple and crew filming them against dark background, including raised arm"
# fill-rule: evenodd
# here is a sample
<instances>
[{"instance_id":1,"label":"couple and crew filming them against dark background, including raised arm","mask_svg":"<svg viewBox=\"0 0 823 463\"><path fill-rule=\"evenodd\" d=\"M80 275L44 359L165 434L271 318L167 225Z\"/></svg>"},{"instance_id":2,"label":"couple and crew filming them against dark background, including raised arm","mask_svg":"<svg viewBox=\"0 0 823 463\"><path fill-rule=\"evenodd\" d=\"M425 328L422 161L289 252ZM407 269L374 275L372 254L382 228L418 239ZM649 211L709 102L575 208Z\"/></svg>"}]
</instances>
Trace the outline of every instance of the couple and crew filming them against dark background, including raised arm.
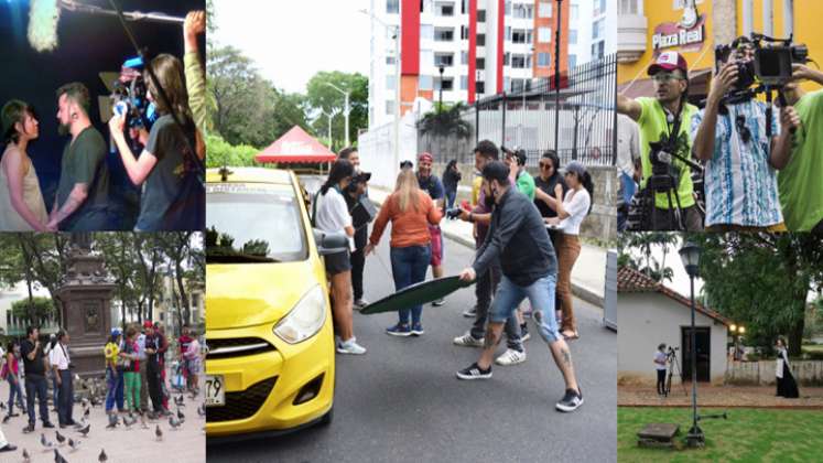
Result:
<instances>
[{"instance_id":1,"label":"couple and crew filming them against dark background, including raised arm","mask_svg":"<svg viewBox=\"0 0 823 463\"><path fill-rule=\"evenodd\" d=\"M147 98L159 118L145 127L126 127L126 114L112 109L108 122L112 155L141 187L134 230L198 230L203 228L205 189L205 84L197 58L197 34L205 13L192 12L184 24L185 68L169 54L154 57L143 73ZM159 95L162 88L165 98ZM37 116L28 103L11 99L0 109L0 230L99 232L120 223L111 206L108 143L90 117L94 95L79 82L56 91L59 134L71 136L63 150L57 192L46 209L28 148L40 137ZM189 105L191 103L191 105ZM131 141L127 140L131 139ZM139 147L140 151L132 151Z\"/></svg>"}]
</instances>

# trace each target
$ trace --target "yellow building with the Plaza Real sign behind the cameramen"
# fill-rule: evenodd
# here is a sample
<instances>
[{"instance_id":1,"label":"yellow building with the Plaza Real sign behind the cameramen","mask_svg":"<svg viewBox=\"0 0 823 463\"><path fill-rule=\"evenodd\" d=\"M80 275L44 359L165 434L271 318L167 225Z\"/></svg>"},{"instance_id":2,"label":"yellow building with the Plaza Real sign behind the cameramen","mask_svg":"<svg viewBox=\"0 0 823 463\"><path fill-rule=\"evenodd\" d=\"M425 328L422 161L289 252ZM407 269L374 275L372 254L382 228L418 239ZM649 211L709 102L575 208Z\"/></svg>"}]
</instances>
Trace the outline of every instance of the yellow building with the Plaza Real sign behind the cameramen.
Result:
<instances>
[{"instance_id":1,"label":"yellow building with the Plaza Real sign behind the cameramen","mask_svg":"<svg viewBox=\"0 0 823 463\"><path fill-rule=\"evenodd\" d=\"M823 63L822 0L619 0L618 88L629 97L652 96L646 74L661 51L683 54L690 69L690 97L707 94L715 44L759 32L779 39L793 33L809 56ZM814 64L809 64L814 66ZM806 83L808 90L817 88Z\"/></svg>"}]
</instances>

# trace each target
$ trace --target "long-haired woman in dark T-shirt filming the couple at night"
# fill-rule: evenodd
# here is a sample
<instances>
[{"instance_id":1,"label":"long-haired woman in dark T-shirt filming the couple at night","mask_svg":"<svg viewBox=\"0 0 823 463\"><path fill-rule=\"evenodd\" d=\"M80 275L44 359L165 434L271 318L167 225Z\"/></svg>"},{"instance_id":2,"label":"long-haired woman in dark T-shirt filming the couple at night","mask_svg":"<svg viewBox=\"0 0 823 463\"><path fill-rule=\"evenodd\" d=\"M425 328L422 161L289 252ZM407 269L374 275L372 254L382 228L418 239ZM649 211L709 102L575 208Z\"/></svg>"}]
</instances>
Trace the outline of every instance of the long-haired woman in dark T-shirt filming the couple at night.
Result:
<instances>
[{"instance_id":1,"label":"long-haired woman in dark T-shirt filming the couple at night","mask_svg":"<svg viewBox=\"0 0 823 463\"><path fill-rule=\"evenodd\" d=\"M140 215L136 232L203 229L205 189L199 177L202 153L195 148L197 131L188 108L188 95L183 77L183 65L176 57L161 54L151 62L158 83L145 72L150 101L154 101L160 118L151 132L139 130L144 146L134 158L126 142L123 115L109 120L111 136L120 152L126 172L134 185L142 185ZM158 84L167 101L159 98ZM176 120L175 120L176 119Z\"/></svg>"}]
</instances>

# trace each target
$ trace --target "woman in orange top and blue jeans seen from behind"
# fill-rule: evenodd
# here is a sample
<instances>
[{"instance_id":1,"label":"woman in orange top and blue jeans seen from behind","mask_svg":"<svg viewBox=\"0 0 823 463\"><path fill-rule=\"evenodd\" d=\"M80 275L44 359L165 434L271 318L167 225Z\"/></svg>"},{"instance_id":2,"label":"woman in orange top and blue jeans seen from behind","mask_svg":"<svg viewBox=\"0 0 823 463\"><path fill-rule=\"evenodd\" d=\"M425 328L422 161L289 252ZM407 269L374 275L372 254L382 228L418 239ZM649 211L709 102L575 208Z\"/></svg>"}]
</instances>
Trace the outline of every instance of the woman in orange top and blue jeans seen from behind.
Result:
<instances>
[{"instance_id":1,"label":"woman in orange top and blue jeans seen from behind","mask_svg":"<svg viewBox=\"0 0 823 463\"><path fill-rule=\"evenodd\" d=\"M400 172L394 193L383 202L375 220L369 244L366 246L366 255L373 251L380 243L386 224L391 220L391 273L394 278L394 290L400 291L425 279L432 257L429 224L437 225L441 218L443 214L429 194L420 190L414 172ZM386 329L386 333L392 336L422 335L422 305L400 309L398 324Z\"/></svg>"}]
</instances>

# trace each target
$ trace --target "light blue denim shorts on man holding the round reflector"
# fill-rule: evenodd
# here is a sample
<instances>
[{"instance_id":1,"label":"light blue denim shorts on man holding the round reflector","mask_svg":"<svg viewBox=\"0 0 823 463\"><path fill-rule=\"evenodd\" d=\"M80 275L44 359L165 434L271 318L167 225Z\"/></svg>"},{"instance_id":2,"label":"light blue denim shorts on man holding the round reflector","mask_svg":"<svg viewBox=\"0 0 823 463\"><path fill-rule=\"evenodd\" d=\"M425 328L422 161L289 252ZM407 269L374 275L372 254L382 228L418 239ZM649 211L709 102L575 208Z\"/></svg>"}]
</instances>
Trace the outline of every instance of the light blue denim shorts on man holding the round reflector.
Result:
<instances>
[{"instance_id":1,"label":"light blue denim shorts on man holding the round reflector","mask_svg":"<svg viewBox=\"0 0 823 463\"><path fill-rule=\"evenodd\" d=\"M549 273L528 287L515 284L505 274L497 288L495 301L491 303L491 323L503 323L517 310L523 299L529 298L532 316L540 326L540 335L549 344L563 338L557 331L557 320L554 315L554 289L557 276Z\"/></svg>"}]
</instances>

